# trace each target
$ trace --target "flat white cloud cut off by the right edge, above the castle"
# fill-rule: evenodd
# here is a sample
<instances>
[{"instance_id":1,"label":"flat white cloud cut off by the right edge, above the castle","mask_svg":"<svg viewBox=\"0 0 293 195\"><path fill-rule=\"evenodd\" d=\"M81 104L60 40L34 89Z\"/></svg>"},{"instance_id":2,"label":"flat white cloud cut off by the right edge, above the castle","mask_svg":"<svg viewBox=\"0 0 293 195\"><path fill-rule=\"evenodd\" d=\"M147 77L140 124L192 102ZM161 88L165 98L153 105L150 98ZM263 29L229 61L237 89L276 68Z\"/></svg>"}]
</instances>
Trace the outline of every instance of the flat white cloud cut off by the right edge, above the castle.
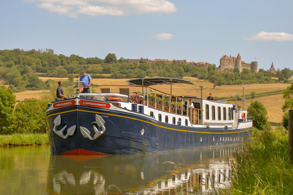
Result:
<instances>
[{"instance_id":1,"label":"flat white cloud cut off by the right edge, above the castle","mask_svg":"<svg viewBox=\"0 0 293 195\"><path fill-rule=\"evenodd\" d=\"M267 32L259 32L251 37L244 37L245 40L258 40L258 41L293 41L293 35L288 33L267 33Z\"/></svg>"}]
</instances>

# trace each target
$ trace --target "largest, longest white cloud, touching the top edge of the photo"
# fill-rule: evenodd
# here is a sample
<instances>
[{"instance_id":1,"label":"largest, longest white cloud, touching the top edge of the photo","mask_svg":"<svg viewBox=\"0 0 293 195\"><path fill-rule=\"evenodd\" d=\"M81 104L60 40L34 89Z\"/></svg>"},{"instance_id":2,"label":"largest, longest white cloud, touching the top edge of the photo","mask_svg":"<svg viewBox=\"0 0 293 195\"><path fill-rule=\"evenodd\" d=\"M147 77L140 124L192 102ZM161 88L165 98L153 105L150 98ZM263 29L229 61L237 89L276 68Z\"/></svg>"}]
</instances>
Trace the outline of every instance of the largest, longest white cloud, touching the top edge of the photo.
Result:
<instances>
[{"instance_id":1,"label":"largest, longest white cloud, touching the top edge of the photo","mask_svg":"<svg viewBox=\"0 0 293 195\"><path fill-rule=\"evenodd\" d=\"M24 0L38 8L69 17L170 14L177 11L167 0Z\"/></svg>"}]
</instances>

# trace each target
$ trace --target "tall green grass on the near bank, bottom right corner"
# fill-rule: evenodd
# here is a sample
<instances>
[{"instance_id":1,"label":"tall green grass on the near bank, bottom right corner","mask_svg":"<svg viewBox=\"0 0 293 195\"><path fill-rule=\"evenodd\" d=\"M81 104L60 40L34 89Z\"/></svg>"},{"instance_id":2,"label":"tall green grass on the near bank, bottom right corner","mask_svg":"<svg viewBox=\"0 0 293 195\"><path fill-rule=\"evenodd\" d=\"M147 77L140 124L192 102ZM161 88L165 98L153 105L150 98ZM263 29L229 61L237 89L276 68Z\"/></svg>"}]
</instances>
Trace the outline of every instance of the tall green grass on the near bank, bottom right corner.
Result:
<instances>
[{"instance_id":1,"label":"tall green grass on the near bank, bottom right corner","mask_svg":"<svg viewBox=\"0 0 293 195\"><path fill-rule=\"evenodd\" d=\"M293 163L288 158L288 132L253 129L250 142L232 161L232 187L225 194L293 194Z\"/></svg>"}]
</instances>

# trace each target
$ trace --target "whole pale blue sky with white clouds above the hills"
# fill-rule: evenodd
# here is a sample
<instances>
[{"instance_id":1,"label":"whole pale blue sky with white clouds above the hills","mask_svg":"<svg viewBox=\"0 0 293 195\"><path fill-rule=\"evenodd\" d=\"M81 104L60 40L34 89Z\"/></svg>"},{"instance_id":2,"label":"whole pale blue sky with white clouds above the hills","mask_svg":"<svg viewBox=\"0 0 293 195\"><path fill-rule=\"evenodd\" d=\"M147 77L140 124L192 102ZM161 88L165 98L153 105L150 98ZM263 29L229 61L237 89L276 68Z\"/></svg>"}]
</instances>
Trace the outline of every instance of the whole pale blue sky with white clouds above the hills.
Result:
<instances>
[{"instance_id":1,"label":"whole pale blue sky with white clouds above the hills","mask_svg":"<svg viewBox=\"0 0 293 195\"><path fill-rule=\"evenodd\" d=\"M293 0L0 1L0 50L293 69Z\"/></svg>"}]
</instances>

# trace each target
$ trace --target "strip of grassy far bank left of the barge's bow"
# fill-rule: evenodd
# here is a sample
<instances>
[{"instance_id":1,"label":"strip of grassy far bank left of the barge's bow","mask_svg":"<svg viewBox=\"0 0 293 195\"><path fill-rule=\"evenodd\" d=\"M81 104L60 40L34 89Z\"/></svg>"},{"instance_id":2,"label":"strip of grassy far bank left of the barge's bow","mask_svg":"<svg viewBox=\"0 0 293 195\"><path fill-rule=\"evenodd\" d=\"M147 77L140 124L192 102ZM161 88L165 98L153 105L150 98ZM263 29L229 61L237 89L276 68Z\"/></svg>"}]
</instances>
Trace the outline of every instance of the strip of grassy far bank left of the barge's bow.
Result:
<instances>
[{"instance_id":1,"label":"strip of grassy far bank left of the barge's bow","mask_svg":"<svg viewBox=\"0 0 293 195\"><path fill-rule=\"evenodd\" d=\"M0 135L0 147L18 145L43 145L48 143L47 134Z\"/></svg>"}]
</instances>

